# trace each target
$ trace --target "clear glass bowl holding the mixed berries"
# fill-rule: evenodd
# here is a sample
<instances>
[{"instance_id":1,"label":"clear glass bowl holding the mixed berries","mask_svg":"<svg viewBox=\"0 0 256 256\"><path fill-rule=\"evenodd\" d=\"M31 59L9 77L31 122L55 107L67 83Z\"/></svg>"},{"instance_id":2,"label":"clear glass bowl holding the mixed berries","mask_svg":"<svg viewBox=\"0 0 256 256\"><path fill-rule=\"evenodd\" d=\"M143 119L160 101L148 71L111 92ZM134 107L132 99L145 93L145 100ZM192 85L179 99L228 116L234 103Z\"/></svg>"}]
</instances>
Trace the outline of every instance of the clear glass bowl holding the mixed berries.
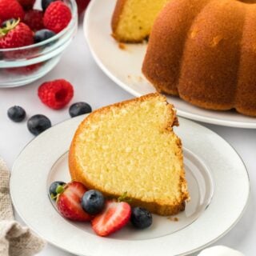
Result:
<instances>
[{"instance_id":1,"label":"clear glass bowl holding the mixed berries","mask_svg":"<svg viewBox=\"0 0 256 256\"><path fill-rule=\"evenodd\" d=\"M69 25L43 42L31 46L0 50L0 88L24 86L42 78L59 62L63 50L78 30L78 8L75 0L64 0L72 13Z\"/></svg>"}]
</instances>

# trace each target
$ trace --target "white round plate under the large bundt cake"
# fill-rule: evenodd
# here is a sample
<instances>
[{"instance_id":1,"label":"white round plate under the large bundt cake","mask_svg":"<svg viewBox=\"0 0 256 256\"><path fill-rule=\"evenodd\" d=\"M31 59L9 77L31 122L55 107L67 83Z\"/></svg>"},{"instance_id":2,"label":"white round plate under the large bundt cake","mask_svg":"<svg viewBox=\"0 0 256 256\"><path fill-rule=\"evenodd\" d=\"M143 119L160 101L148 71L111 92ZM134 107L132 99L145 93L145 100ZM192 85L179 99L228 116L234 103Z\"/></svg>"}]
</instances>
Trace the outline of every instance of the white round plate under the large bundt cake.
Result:
<instances>
[{"instance_id":1,"label":"white round plate under the large bundt cake","mask_svg":"<svg viewBox=\"0 0 256 256\"><path fill-rule=\"evenodd\" d=\"M86 10L84 30L90 50L98 66L114 82L134 96L154 92L154 86L142 75L142 61L146 44L126 44L125 50L111 37L111 16L116 0L91 1ZM196 121L220 126L256 128L256 118L246 117L235 111L204 110L177 97L167 97L178 110L178 115Z\"/></svg>"}]
</instances>

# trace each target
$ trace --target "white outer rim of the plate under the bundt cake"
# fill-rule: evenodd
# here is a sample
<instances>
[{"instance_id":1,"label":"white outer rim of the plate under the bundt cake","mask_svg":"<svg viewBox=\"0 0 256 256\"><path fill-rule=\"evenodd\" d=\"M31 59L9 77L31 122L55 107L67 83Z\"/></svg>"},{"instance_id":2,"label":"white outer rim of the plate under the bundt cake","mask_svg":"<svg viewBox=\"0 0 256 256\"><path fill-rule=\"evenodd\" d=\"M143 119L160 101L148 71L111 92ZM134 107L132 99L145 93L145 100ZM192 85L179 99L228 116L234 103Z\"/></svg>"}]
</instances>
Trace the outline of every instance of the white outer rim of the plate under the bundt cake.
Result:
<instances>
[{"instance_id":1,"label":"white outer rim of the plate under the bundt cake","mask_svg":"<svg viewBox=\"0 0 256 256\"><path fill-rule=\"evenodd\" d=\"M115 82L118 86L120 86L123 90L126 90L128 93L134 95L135 97L140 97L142 94L138 93L138 91L133 90L130 88L130 86L126 85L125 82L122 82L122 80L118 79L114 74L111 73L110 70L107 69L107 67L101 62L100 58L98 58L98 55L94 51L94 47L90 43L90 36L89 36L89 21L90 21L90 13L93 9L94 5L97 5L99 0L94 0L90 2L90 5L88 6L86 10L86 14L83 19L83 33L86 38L87 45L89 46L90 53L92 54L94 61L97 63L97 65L100 67L100 69L103 71L104 74L106 74L107 77L109 77L113 82ZM209 110L210 111L210 110ZM220 111L221 113L221 111ZM198 122L205 122L213 125L218 126L227 126L227 127L234 127L234 128L244 128L244 129L256 129L256 122L235 122L235 121L227 121L225 119L219 119L219 118L209 118L202 116L200 114L194 114L190 112L186 112L183 110L177 109L178 116L182 118L189 118L190 120L198 121ZM242 114L241 114L242 115ZM256 118L255 118L256 120Z\"/></svg>"}]
</instances>

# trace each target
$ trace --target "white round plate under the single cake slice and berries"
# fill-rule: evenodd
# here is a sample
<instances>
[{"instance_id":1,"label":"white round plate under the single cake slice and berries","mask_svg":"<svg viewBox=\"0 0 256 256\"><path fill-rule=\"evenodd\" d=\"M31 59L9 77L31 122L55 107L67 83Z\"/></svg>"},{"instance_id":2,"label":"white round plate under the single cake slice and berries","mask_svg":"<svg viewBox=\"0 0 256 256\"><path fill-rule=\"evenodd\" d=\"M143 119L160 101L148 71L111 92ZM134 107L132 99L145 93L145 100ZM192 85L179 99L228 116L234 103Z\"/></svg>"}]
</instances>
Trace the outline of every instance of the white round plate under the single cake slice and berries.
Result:
<instances>
[{"instance_id":1,"label":"white round plate under the single cake slice and berries","mask_svg":"<svg viewBox=\"0 0 256 256\"><path fill-rule=\"evenodd\" d=\"M109 238L94 234L90 223L62 218L47 191L53 181L70 181L67 154L83 118L62 122L35 138L18 156L11 173L15 209L54 246L83 256L187 255L221 238L242 216L250 185L241 158L218 134L180 118L175 132L184 146L191 197L184 212L170 218L154 215L149 229L128 225Z\"/></svg>"}]
</instances>

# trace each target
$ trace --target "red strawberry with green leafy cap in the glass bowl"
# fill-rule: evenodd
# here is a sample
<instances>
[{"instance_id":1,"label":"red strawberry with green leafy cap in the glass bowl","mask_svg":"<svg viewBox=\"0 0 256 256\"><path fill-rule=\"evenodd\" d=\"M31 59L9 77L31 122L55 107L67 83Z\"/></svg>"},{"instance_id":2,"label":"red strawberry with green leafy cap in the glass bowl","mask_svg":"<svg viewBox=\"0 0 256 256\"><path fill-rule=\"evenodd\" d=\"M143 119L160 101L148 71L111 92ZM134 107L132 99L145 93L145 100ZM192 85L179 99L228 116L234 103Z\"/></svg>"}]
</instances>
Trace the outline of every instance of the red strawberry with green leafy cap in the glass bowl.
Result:
<instances>
[{"instance_id":1,"label":"red strawberry with green leafy cap in the glass bowl","mask_svg":"<svg viewBox=\"0 0 256 256\"><path fill-rule=\"evenodd\" d=\"M33 43L33 31L19 20L7 22L6 26L0 29L0 49L29 46Z\"/></svg>"}]
</instances>

